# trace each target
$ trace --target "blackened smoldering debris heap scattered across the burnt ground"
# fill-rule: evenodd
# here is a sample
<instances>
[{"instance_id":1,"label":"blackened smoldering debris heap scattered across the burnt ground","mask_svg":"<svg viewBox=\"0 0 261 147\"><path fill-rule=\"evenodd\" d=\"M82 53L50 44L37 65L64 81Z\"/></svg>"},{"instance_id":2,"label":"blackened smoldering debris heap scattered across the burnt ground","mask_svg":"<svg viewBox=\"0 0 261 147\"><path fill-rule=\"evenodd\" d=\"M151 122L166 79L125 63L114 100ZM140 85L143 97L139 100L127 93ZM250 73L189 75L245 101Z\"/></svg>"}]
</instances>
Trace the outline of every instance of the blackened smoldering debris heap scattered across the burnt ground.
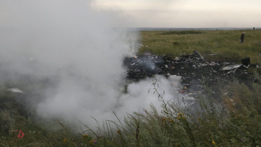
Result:
<instances>
[{"instance_id":1,"label":"blackened smoldering debris heap scattered across the burnt ground","mask_svg":"<svg viewBox=\"0 0 261 147\"><path fill-rule=\"evenodd\" d=\"M241 81L254 80L247 72L250 66L250 60L247 64L234 64L227 62L211 62L205 60L198 51L193 54L183 55L181 57L171 58L168 55L156 56L150 53L126 57L124 65L127 67L127 79L140 80L154 74L181 76L183 84L181 93L193 93L201 91L208 83L208 86L214 88L218 81L226 82L231 77ZM253 66L253 64L251 64ZM255 65L254 65L255 66ZM215 90L212 91L215 93Z\"/></svg>"}]
</instances>

